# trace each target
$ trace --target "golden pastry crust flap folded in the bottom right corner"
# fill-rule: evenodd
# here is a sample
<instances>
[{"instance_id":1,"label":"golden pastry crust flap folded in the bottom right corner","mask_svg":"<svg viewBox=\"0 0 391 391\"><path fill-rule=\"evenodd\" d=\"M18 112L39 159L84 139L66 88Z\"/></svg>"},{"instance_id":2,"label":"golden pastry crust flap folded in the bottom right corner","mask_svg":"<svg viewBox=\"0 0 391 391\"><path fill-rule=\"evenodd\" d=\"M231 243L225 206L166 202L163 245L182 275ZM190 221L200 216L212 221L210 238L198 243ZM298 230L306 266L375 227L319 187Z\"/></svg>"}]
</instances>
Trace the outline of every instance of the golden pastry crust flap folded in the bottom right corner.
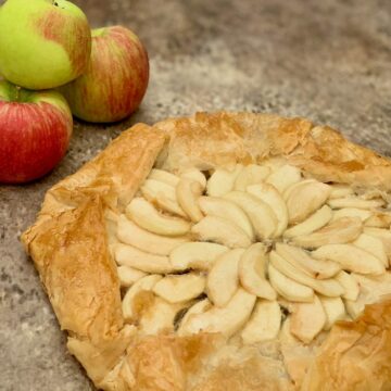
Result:
<instances>
[{"instance_id":1,"label":"golden pastry crust flap folded in the bottom right corner","mask_svg":"<svg viewBox=\"0 0 391 391\"><path fill-rule=\"evenodd\" d=\"M325 382L327 379L327 382ZM391 301L336 324L310 367L303 391L391 389Z\"/></svg>"}]
</instances>

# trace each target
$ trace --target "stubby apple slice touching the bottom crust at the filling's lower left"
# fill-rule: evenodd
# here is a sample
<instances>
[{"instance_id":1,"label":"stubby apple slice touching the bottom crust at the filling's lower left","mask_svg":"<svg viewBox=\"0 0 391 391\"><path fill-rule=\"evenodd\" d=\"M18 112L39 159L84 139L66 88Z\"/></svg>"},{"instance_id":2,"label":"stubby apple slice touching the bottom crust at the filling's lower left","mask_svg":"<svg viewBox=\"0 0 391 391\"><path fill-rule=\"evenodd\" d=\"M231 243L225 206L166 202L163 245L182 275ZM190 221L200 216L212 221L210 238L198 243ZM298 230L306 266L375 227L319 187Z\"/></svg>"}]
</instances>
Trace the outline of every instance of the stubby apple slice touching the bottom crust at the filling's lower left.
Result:
<instances>
[{"instance_id":1,"label":"stubby apple slice touching the bottom crust at the filling's lower left","mask_svg":"<svg viewBox=\"0 0 391 391\"><path fill-rule=\"evenodd\" d=\"M151 305L144 308L140 317L139 330L150 336L163 331L174 331L175 317L185 306L184 303L172 304L161 298L154 298Z\"/></svg>"}]
</instances>

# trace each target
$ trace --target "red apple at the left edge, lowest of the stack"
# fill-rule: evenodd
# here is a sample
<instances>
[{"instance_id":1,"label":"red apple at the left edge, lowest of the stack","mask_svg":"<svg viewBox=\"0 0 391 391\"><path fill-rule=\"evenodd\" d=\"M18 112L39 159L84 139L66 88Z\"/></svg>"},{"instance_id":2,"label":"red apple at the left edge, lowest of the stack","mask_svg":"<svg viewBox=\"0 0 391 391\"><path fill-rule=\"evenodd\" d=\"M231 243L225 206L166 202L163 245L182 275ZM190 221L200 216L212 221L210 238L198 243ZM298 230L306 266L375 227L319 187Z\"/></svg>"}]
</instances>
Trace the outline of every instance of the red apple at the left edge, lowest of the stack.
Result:
<instances>
[{"instance_id":1,"label":"red apple at the left edge, lowest of the stack","mask_svg":"<svg viewBox=\"0 0 391 391\"><path fill-rule=\"evenodd\" d=\"M23 184L49 173L65 155L72 129L61 93L0 81L0 182Z\"/></svg>"}]
</instances>

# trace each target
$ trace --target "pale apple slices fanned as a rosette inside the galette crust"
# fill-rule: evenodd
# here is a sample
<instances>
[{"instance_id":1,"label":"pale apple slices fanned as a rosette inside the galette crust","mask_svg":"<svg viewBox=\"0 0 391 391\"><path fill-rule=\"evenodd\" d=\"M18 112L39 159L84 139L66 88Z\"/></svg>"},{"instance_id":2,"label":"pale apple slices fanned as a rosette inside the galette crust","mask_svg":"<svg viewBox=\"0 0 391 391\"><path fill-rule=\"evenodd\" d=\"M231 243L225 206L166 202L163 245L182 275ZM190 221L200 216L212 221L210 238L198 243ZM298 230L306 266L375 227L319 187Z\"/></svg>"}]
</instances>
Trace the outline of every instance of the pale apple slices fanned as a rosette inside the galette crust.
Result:
<instances>
[{"instance_id":1,"label":"pale apple slices fanned as a rosette inside the galette crust","mask_svg":"<svg viewBox=\"0 0 391 391\"><path fill-rule=\"evenodd\" d=\"M124 317L148 335L220 332L244 344L278 338L285 324L310 343L391 293L383 197L281 160L153 168L125 214L106 214Z\"/></svg>"}]
</instances>

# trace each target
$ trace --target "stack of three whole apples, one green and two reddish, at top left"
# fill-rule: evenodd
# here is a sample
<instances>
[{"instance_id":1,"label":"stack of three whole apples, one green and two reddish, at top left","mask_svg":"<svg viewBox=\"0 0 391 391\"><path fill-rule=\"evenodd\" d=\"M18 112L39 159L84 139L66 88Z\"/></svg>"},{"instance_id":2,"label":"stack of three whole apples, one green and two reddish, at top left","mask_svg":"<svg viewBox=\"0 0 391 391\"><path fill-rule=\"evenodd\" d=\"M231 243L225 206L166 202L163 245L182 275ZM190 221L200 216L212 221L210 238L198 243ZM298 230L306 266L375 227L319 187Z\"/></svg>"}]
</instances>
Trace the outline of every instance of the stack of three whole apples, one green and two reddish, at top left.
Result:
<instances>
[{"instance_id":1,"label":"stack of three whole apples, one green and two reddish, at top left","mask_svg":"<svg viewBox=\"0 0 391 391\"><path fill-rule=\"evenodd\" d=\"M127 117L148 86L149 62L122 26L90 30L65 0L8 0L0 7L0 182L25 182L64 156L73 117Z\"/></svg>"}]
</instances>

